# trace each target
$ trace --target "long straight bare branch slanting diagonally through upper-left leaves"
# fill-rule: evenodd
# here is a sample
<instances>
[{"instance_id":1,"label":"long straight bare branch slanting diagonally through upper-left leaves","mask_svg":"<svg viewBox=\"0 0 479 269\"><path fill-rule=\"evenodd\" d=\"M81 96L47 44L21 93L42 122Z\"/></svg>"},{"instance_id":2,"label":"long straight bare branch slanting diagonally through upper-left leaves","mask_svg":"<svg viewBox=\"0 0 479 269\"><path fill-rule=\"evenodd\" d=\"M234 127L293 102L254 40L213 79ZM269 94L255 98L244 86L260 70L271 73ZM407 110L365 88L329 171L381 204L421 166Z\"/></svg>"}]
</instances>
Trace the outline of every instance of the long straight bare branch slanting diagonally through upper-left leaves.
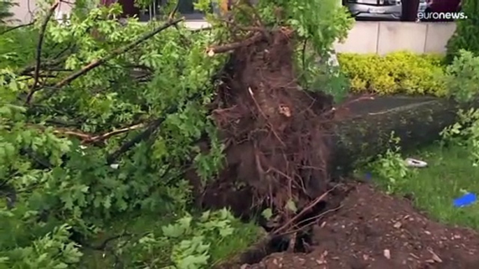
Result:
<instances>
[{"instance_id":1,"label":"long straight bare branch slanting diagonally through upper-left leaves","mask_svg":"<svg viewBox=\"0 0 479 269\"><path fill-rule=\"evenodd\" d=\"M71 84L75 79L78 77L87 74L87 72L93 70L94 68L97 68L98 66L101 66L103 63L110 61L111 59L115 58L116 56L120 54L124 54L125 52L128 52L129 50L133 49L134 47L140 45L140 43L143 43L145 40L152 38L156 34L160 33L161 31L168 29L170 26L173 26L175 24L178 24L179 22L182 22L184 18L180 18L177 20L174 20L172 22L168 22L163 24L163 26L160 26L157 29L154 29L154 31L151 31L149 33L146 33L145 35L141 36L137 40L133 41L132 43L125 45L124 47L119 47L118 49L115 49L110 55L105 56L104 58L97 59L95 61L92 61L91 63L87 64L87 66L84 66L82 69L78 70L77 72L73 72L73 74L69 75L68 77L65 77L62 79L60 82L55 84L53 86L52 91L46 95L45 98L42 100L47 100L49 99L54 93L56 93L59 89L62 87ZM40 101L42 101L40 100Z\"/></svg>"}]
</instances>

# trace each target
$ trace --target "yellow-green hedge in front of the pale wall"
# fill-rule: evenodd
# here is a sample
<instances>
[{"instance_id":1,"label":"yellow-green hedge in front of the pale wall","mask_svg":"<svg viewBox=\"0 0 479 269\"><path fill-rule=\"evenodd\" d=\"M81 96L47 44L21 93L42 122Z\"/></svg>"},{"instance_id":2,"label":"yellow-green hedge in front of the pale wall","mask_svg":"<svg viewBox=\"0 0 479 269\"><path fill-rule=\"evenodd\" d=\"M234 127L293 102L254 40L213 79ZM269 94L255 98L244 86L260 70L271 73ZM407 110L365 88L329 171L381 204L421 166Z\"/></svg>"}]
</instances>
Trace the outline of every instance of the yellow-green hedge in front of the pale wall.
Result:
<instances>
[{"instance_id":1,"label":"yellow-green hedge in front of the pale wall","mask_svg":"<svg viewBox=\"0 0 479 269\"><path fill-rule=\"evenodd\" d=\"M340 54L339 63L355 93L446 95L441 79L443 58L439 55Z\"/></svg>"}]
</instances>

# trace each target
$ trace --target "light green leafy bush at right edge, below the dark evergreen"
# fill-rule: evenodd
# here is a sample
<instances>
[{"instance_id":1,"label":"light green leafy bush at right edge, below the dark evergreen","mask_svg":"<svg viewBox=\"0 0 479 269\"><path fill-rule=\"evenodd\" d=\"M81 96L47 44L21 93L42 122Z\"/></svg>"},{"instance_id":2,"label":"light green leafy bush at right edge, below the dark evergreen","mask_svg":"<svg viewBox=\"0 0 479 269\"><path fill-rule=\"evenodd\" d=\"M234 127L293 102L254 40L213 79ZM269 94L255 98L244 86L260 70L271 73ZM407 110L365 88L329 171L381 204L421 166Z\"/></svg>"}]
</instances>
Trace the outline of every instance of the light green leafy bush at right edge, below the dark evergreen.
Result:
<instances>
[{"instance_id":1,"label":"light green leafy bush at right edge, below the dark evergreen","mask_svg":"<svg viewBox=\"0 0 479 269\"><path fill-rule=\"evenodd\" d=\"M475 98L479 93L479 57L460 50L446 68L444 81L448 94L457 101L467 102Z\"/></svg>"}]
</instances>

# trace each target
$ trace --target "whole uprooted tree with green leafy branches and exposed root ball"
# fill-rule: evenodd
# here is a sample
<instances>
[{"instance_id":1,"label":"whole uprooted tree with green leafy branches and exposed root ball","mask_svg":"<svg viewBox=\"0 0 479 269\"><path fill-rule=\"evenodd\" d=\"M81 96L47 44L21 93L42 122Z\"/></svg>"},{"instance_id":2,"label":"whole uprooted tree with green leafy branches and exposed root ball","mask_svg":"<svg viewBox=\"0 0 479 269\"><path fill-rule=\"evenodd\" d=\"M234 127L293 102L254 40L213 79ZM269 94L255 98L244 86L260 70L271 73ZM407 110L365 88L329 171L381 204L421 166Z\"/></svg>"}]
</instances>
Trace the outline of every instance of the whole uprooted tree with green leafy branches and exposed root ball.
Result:
<instances>
[{"instance_id":1,"label":"whole uprooted tree with green leafy branches and exposed root ball","mask_svg":"<svg viewBox=\"0 0 479 269\"><path fill-rule=\"evenodd\" d=\"M305 89L351 25L336 2L238 1L191 31L177 5L145 25L89 1L57 22L73 4L54 1L3 31L0 264L92 268L99 251L103 266L201 268L232 233L224 211L160 234L126 223L175 220L224 186L287 229L327 188L332 100Z\"/></svg>"}]
</instances>

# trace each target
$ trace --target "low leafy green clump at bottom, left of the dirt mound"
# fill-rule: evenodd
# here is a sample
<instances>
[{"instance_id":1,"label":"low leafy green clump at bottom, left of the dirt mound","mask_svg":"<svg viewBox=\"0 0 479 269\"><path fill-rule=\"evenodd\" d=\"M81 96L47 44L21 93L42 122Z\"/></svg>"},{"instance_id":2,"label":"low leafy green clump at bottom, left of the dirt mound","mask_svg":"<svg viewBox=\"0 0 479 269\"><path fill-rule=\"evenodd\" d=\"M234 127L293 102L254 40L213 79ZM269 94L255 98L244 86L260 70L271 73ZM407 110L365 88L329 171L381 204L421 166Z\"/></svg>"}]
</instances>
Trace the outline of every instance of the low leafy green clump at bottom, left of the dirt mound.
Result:
<instances>
[{"instance_id":1,"label":"low leafy green clump at bottom, left of the dirt mound","mask_svg":"<svg viewBox=\"0 0 479 269\"><path fill-rule=\"evenodd\" d=\"M169 224L158 221L157 216L142 216L135 224L128 224L137 233L117 238L111 254L89 253L90 260L85 259L80 268L102 268L111 264L108 259L113 257L120 257L124 268L210 268L263 236L256 226L242 224L226 209L186 213Z\"/></svg>"}]
</instances>

